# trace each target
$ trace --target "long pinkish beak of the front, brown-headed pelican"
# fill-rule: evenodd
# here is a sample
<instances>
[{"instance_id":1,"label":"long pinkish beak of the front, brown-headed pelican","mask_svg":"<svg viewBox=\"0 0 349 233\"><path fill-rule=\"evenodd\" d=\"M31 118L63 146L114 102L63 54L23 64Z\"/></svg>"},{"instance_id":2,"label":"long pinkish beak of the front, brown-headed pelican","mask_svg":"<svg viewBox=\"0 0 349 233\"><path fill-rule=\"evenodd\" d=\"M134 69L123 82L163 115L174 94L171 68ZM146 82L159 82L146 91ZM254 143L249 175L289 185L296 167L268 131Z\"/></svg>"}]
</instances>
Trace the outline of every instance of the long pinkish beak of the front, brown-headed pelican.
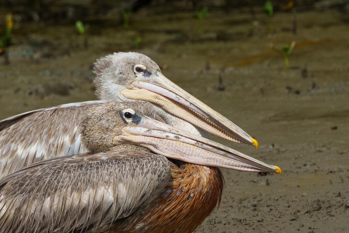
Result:
<instances>
[{"instance_id":1,"label":"long pinkish beak of the front, brown-headed pelican","mask_svg":"<svg viewBox=\"0 0 349 233\"><path fill-rule=\"evenodd\" d=\"M136 126L125 127L123 132L114 138L117 143L122 141L140 145L168 158L203 166L281 174L281 169L277 166L268 165L227 146L146 116L142 116Z\"/></svg>"}]
</instances>

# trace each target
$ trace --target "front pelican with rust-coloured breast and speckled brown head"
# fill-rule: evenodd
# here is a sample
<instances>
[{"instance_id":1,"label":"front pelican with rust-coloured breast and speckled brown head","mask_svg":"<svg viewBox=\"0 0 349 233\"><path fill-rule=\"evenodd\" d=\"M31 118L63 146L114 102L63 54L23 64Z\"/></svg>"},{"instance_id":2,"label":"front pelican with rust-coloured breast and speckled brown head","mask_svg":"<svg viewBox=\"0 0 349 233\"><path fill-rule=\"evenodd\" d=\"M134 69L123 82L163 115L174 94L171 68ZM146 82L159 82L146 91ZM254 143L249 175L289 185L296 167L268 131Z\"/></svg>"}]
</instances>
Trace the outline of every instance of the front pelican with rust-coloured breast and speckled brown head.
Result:
<instances>
[{"instance_id":1,"label":"front pelican with rust-coloured breast and speckled brown head","mask_svg":"<svg viewBox=\"0 0 349 233\"><path fill-rule=\"evenodd\" d=\"M281 173L125 103L95 104L79 132L91 153L0 180L0 232L192 232L220 202L218 167Z\"/></svg>"}]
</instances>

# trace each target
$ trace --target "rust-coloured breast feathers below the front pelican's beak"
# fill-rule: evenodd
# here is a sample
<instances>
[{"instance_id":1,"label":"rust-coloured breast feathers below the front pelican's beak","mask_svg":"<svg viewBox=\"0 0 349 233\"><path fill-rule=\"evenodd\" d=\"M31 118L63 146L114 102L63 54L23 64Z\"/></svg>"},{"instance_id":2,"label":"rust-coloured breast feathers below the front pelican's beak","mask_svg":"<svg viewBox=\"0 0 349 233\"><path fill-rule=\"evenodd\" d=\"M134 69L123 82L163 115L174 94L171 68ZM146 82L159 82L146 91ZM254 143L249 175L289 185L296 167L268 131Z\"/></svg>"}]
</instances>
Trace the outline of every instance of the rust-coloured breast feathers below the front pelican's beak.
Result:
<instances>
[{"instance_id":1,"label":"rust-coloured breast feathers below the front pelican's beak","mask_svg":"<svg viewBox=\"0 0 349 233\"><path fill-rule=\"evenodd\" d=\"M171 163L171 180L162 194L145 210L104 233L190 233L220 203L222 190L219 168Z\"/></svg>"}]
</instances>

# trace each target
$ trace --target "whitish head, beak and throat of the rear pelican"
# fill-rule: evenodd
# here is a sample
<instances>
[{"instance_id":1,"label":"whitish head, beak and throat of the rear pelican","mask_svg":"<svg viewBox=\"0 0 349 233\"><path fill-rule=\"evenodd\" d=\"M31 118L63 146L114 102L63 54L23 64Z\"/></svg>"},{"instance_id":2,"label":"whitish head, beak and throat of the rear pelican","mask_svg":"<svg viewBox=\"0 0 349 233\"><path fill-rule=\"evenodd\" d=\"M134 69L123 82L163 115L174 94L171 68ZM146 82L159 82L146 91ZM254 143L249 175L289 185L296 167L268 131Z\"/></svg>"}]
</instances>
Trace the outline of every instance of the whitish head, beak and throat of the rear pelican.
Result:
<instances>
[{"instance_id":1,"label":"whitish head, beak and throat of the rear pelican","mask_svg":"<svg viewBox=\"0 0 349 233\"><path fill-rule=\"evenodd\" d=\"M236 124L171 82L149 57L135 52L108 55L95 63L97 95L103 100L147 101L164 122L200 135L200 128L219 137L258 148Z\"/></svg>"}]
</instances>

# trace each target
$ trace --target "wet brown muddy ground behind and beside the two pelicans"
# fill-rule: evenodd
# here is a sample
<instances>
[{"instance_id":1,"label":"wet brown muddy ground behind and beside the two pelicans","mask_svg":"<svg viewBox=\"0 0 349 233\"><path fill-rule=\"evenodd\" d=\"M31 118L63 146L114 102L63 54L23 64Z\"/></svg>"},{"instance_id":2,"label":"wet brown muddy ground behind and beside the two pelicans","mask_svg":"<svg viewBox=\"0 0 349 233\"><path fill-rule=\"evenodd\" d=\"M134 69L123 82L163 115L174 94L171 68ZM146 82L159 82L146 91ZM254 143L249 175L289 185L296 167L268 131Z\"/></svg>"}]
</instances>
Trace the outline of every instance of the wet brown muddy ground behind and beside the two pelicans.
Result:
<instances>
[{"instance_id":1,"label":"wet brown muddy ground behind and beside the two pelicans","mask_svg":"<svg viewBox=\"0 0 349 233\"><path fill-rule=\"evenodd\" d=\"M225 172L222 203L196 232L349 232L348 20L336 10L299 12L294 35L294 15L277 13L271 36L261 10L254 17L248 9L210 11L199 35L189 12L141 10L128 30L110 14L91 20L87 50L73 25L17 25L11 64L0 65L0 118L94 100L93 62L116 51L141 52L260 148L214 140L283 170ZM292 41L286 69L270 44Z\"/></svg>"}]
</instances>

